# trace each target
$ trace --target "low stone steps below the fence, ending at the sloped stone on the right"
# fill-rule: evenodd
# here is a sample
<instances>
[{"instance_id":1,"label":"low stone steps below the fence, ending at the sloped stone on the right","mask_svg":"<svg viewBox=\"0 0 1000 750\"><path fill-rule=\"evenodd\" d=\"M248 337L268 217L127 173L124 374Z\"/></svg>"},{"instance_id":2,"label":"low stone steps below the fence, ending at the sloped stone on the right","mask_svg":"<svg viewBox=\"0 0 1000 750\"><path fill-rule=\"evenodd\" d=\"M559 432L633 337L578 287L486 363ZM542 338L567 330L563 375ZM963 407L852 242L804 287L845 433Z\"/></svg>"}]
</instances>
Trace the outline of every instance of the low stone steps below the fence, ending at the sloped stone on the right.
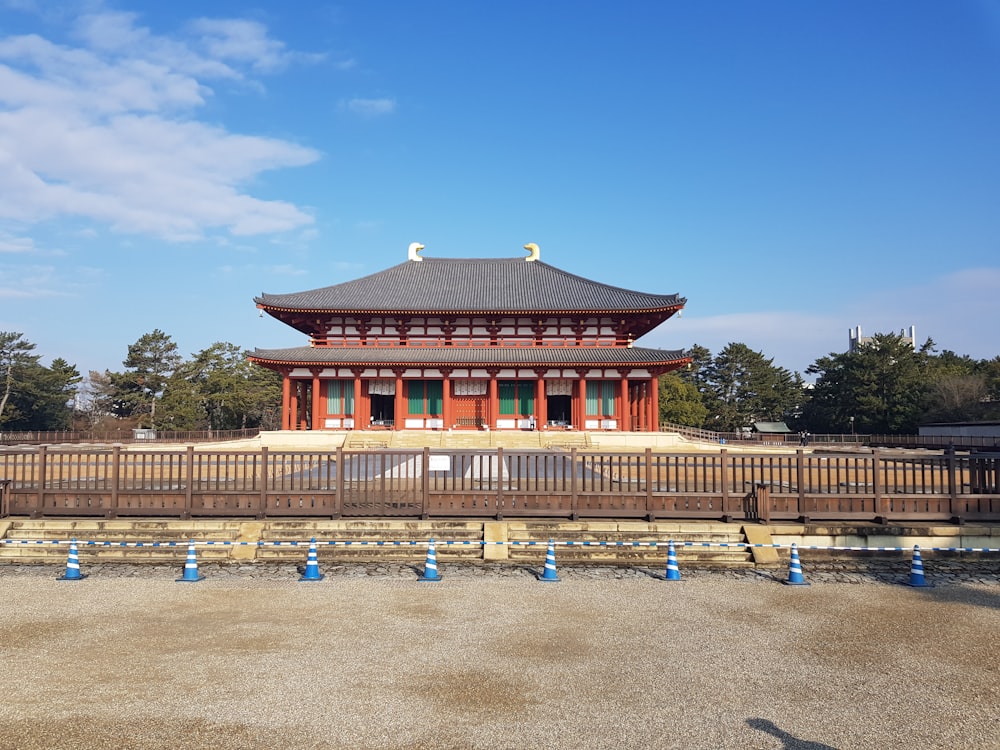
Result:
<instances>
[{"instance_id":1,"label":"low stone steps below the fence, ending at the sloped stone on the right","mask_svg":"<svg viewBox=\"0 0 1000 750\"><path fill-rule=\"evenodd\" d=\"M303 562L309 540L317 539L321 561L375 563L411 561L421 563L435 539L439 559L476 562L502 560L511 564L536 564L544 557L549 539L574 542L559 545L557 557L567 563L609 565L665 564L666 542L674 540L679 563L747 566L752 557L746 548L702 548L701 542L746 541L740 526L723 523L639 521L482 521L462 519L272 519L235 521L216 519L178 520L74 520L3 519L0 538L29 544L0 544L0 575L4 564L66 563L69 546L35 544L35 540L68 542L76 539L82 566L96 563L170 563L183 566L188 540L214 542L196 547L202 562ZM351 545L324 542L351 541ZM410 545L407 542L421 542ZM458 542L446 544L447 541ZM468 541L472 544L461 544ZM480 542L518 542L490 545ZM608 542L608 546L583 546L582 542ZM122 546L127 542L127 546ZM141 546L136 543L141 542ZM231 544L223 544L230 542ZM238 544L245 542L246 544ZM258 542L263 544L258 545ZM275 544L281 542L281 544ZM292 542L296 542L293 544ZM360 544L367 542L367 544ZM402 544L393 544L401 542ZM529 545L529 542L533 544ZM622 546L615 546L621 542ZM633 542L661 542L663 546L631 546ZM694 546L684 546L690 542ZM155 544L155 546L154 546Z\"/></svg>"}]
</instances>

